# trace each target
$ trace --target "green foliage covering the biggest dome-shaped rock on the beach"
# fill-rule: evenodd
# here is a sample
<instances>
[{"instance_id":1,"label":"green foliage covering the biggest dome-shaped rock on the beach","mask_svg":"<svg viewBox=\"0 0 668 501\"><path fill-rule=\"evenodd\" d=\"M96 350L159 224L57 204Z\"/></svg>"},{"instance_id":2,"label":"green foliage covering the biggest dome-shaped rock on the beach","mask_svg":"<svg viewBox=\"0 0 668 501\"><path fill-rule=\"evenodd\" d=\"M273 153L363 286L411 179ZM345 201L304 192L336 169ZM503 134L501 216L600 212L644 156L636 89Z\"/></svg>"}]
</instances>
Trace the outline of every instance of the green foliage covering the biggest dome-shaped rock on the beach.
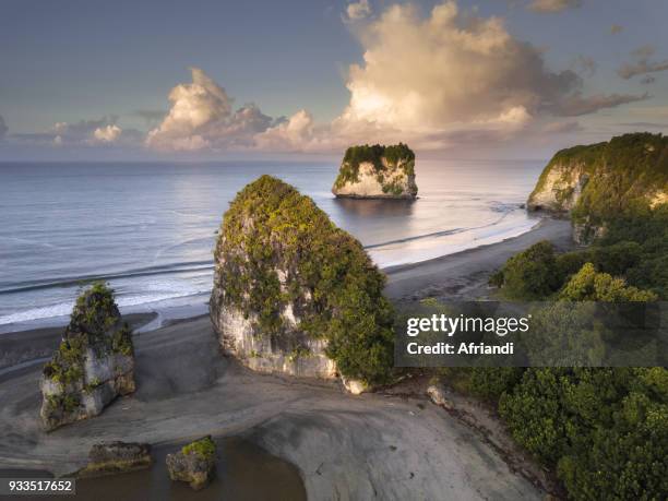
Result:
<instances>
[{"instance_id":1,"label":"green foliage covering the biggest dome-shaped rock on the beach","mask_svg":"<svg viewBox=\"0 0 668 501\"><path fill-rule=\"evenodd\" d=\"M394 312L382 295L385 278L310 198L262 176L231 202L214 254L223 301L252 317L260 335L289 336L282 313L290 303L296 329L326 339L343 375L387 377Z\"/></svg>"}]
</instances>

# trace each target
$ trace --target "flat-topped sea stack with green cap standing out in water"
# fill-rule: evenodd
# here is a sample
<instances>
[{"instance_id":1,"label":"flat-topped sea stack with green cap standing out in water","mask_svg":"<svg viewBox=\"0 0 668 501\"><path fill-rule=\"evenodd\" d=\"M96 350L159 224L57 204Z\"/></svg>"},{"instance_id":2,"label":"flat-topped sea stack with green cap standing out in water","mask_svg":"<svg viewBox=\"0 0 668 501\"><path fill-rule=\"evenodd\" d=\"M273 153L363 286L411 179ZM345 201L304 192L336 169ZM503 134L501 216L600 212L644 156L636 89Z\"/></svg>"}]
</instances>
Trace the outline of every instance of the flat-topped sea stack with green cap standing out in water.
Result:
<instances>
[{"instance_id":1,"label":"flat-topped sea stack with green cap standing out in water","mask_svg":"<svg viewBox=\"0 0 668 501\"><path fill-rule=\"evenodd\" d=\"M415 153L405 144L351 146L332 187L336 196L415 199Z\"/></svg>"}]
</instances>

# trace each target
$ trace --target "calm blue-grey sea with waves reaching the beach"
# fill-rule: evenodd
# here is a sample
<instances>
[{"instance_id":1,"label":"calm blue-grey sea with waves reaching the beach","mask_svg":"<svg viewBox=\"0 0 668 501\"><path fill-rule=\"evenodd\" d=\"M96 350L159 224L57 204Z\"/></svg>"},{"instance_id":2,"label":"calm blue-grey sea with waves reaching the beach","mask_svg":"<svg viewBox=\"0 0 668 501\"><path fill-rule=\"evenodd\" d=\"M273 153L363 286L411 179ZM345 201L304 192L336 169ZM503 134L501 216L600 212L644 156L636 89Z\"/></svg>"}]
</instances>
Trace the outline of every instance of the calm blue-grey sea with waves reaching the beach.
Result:
<instances>
[{"instance_id":1,"label":"calm blue-grey sea with waves reaching the beach","mask_svg":"<svg viewBox=\"0 0 668 501\"><path fill-rule=\"evenodd\" d=\"M520 204L542 166L418 162L419 199L401 202L334 199L334 163L0 164L0 332L62 320L94 278L124 312L204 312L222 215L262 174L310 195L385 267L527 231Z\"/></svg>"}]
</instances>

